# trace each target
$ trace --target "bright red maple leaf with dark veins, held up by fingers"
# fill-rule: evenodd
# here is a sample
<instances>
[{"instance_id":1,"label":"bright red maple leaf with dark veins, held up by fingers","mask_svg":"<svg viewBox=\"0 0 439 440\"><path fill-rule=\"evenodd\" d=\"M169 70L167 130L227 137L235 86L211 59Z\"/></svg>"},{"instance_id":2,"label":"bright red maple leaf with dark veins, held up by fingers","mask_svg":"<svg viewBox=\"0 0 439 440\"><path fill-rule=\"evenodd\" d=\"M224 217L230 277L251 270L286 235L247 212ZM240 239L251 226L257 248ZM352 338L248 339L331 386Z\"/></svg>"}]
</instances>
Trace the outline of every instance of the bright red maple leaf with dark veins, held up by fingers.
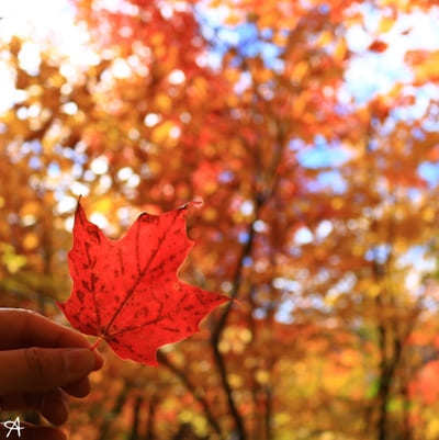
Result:
<instances>
[{"instance_id":1,"label":"bright red maple leaf with dark veins, held up by fingers","mask_svg":"<svg viewBox=\"0 0 439 440\"><path fill-rule=\"evenodd\" d=\"M78 202L68 255L74 287L57 303L72 327L105 339L123 359L157 365L159 347L199 331L201 319L229 300L177 275L194 245L185 234L188 206L143 213L111 240Z\"/></svg>"}]
</instances>

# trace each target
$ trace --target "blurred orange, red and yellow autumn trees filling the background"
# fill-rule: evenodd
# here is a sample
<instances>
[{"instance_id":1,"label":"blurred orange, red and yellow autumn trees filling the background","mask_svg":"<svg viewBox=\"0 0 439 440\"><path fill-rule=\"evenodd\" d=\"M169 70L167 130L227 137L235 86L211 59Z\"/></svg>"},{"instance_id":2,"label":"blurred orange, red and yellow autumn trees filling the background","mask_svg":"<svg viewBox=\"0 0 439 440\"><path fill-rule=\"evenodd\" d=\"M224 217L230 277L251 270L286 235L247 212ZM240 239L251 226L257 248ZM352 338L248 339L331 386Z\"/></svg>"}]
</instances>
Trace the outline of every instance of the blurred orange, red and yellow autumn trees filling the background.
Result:
<instances>
[{"instance_id":1,"label":"blurred orange, red and yellow autumn trees filling the background","mask_svg":"<svg viewBox=\"0 0 439 440\"><path fill-rule=\"evenodd\" d=\"M70 438L437 439L439 50L407 48L408 79L360 102L347 71L438 2L115 3L74 1L80 68L46 45L30 71L30 42L0 42L1 305L65 323L80 194L111 237L202 198L181 273L238 301L157 369L102 348Z\"/></svg>"}]
</instances>

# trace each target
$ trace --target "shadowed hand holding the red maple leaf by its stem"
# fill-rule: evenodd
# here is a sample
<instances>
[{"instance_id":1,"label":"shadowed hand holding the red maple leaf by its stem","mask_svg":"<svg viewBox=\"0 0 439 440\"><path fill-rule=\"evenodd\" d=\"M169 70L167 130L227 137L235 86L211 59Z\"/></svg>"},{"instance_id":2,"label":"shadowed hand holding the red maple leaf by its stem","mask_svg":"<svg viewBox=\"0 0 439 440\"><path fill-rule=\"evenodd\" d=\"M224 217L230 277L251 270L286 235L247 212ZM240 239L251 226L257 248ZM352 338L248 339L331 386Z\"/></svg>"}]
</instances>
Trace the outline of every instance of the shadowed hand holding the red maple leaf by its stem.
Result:
<instances>
[{"instance_id":1,"label":"shadowed hand holding the red maple leaf by its stem","mask_svg":"<svg viewBox=\"0 0 439 440\"><path fill-rule=\"evenodd\" d=\"M68 418L68 396L87 396L88 375L102 365L78 331L32 311L0 308L0 409L34 409L55 425L22 422L21 440L65 440L57 426ZM0 425L0 438L8 432Z\"/></svg>"}]
</instances>

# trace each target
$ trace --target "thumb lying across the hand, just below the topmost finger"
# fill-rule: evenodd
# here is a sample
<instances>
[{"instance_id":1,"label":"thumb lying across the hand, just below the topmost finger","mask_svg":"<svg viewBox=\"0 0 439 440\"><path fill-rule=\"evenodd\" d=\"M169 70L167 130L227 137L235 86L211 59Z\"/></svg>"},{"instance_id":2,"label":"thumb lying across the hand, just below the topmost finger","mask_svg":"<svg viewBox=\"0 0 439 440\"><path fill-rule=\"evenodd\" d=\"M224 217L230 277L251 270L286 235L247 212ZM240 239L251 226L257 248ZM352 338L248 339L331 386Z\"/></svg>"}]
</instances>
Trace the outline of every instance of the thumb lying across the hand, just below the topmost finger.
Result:
<instances>
[{"instance_id":1,"label":"thumb lying across the hand, just below the topmost finger","mask_svg":"<svg viewBox=\"0 0 439 440\"><path fill-rule=\"evenodd\" d=\"M95 366L87 348L0 351L0 394L48 391L85 377Z\"/></svg>"}]
</instances>

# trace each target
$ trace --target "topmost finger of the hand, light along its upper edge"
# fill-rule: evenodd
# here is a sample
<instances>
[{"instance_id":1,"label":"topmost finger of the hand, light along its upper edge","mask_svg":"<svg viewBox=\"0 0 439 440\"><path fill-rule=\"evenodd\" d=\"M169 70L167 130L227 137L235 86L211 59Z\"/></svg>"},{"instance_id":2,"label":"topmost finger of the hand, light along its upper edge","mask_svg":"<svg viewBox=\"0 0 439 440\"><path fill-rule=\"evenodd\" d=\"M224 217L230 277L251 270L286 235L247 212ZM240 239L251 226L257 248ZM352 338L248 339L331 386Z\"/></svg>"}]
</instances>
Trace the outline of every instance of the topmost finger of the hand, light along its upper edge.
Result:
<instances>
[{"instance_id":1,"label":"topmost finger of the hand, light along its upper edge","mask_svg":"<svg viewBox=\"0 0 439 440\"><path fill-rule=\"evenodd\" d=\"M90 348L89 341L71 328L61 326L34 311L25 308L0 308L0 350L26 347ZM102 357L94 351L97 369L102 366Z\"/></svg>"}]
</instances>

